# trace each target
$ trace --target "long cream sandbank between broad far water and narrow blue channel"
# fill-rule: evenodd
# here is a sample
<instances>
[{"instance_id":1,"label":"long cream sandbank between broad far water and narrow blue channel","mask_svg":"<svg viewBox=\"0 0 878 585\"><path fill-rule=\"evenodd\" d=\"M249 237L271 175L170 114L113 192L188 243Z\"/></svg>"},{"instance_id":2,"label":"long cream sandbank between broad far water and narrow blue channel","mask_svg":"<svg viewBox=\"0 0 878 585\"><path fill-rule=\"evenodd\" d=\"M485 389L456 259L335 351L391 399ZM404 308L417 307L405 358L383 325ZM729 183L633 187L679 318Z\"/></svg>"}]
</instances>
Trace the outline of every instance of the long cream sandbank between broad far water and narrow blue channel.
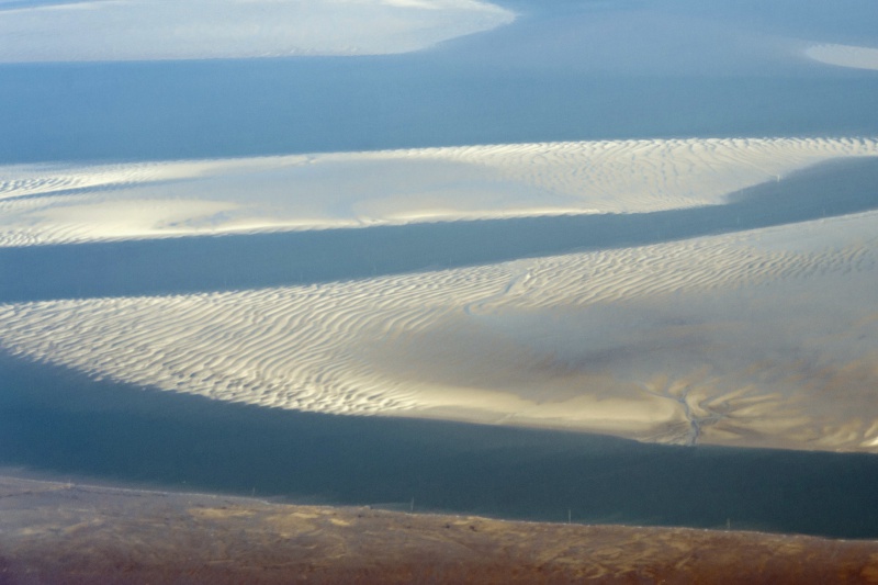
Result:
<instances>
[{"instance_id":1,"label":"long cream sandbank between broad far water and narrow blue channel","mask_svg":"<svg viewBox=\"0 0 878 585\"><path fill-rule=\"evenodd\" d=\"M0 168L0 246L719 204L875 139L673 139Z\"/></svg>"}]
</instances>

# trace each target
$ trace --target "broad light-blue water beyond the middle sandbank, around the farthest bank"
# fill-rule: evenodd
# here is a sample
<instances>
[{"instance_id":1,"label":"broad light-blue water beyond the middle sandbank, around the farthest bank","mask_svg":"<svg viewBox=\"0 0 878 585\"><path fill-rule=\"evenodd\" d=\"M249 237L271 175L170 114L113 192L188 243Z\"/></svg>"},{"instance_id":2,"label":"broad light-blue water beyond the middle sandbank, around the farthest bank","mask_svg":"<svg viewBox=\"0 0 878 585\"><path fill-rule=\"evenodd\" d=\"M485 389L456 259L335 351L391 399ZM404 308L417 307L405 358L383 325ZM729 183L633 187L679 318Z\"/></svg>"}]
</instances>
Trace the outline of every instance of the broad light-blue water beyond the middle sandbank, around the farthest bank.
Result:
<instances>
[{"instance_id":1,"label":"broad light-blue water beyond the middle sandbank, around the farthest bank","mask_svg":"<svg viewBox=\"0 0 878 585\"><path fill-rule=\"evenodd\" d=\"M617 30L643 2L506 3L521 12L510 26L407 55L0 65L0 162L878 134L876 71L739 54L711 37L677 46L691 31L653 37L649 20ZM853 42L878 30L871 4L854 0L797 3L791 23L716 4L745 31ZM587 29L595 21L611 32Z\"/></svg>"}]
</instances>

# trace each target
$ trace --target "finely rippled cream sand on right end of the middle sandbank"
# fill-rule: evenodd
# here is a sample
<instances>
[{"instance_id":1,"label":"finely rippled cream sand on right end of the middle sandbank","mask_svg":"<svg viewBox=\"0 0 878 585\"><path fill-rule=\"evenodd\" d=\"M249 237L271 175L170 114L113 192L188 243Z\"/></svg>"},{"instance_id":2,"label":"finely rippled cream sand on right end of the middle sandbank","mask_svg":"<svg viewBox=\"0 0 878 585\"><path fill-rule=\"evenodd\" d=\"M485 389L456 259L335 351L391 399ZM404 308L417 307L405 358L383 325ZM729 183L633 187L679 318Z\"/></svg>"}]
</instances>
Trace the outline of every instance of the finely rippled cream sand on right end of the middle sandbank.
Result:
<instances>
[{"instance_id":1,"label":"finely rippled cream sand on right end of the middle sandbank","mask_svg":"<svg viewBox=\"0 0 878 585\"><path fill-rule=\"evenodd\" d=\"M722 138L545 143L444 149L437 156L503 169L563 195L588 193L595 211L650 212L721 196L831 158L876 156L873 139Z\"/></svg>"}]
</instances>

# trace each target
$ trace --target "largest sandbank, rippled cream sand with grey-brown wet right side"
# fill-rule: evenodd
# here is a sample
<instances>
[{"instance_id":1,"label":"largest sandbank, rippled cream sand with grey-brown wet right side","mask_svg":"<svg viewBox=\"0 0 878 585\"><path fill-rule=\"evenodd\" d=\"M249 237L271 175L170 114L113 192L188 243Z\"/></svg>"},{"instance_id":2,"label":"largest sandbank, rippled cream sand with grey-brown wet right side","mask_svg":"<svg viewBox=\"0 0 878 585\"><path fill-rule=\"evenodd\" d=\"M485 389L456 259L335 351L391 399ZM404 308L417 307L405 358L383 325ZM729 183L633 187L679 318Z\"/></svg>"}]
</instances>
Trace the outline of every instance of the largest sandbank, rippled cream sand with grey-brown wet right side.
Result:
<instances>
[{"instance_id":1,"label":"largest sandbank, rippled cream sand with grey-brown wet right side","mask_svg":"<svg viewBox=\"0 0 878 585\"><path fill-rule=\"evenodd\" d=\"M0 306L0 347L305 410L878 451L878 213L246 292Z\"/></svg>"}]
</instances>

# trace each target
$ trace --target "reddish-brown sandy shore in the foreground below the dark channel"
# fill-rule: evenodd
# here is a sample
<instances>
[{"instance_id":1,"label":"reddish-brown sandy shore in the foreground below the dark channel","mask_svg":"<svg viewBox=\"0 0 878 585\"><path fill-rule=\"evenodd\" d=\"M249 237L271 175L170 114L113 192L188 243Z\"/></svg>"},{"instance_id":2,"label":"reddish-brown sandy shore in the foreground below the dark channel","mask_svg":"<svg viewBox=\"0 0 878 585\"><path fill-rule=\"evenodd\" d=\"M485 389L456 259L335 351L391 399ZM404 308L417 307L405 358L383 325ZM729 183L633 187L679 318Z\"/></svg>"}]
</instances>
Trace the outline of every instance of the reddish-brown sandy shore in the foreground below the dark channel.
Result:
<instances>
[{"instance_id":1,"label":"reddish-brown sandy shore in the foreground below the dark channel","mask_svg":"<svg viewBox=\"0 0 878 585\"><path fill-rule=\"evenodd\" d=\"M0 584L878 583L878 541L502 521L0 477Z\"/></svg>"}]
</instances>

